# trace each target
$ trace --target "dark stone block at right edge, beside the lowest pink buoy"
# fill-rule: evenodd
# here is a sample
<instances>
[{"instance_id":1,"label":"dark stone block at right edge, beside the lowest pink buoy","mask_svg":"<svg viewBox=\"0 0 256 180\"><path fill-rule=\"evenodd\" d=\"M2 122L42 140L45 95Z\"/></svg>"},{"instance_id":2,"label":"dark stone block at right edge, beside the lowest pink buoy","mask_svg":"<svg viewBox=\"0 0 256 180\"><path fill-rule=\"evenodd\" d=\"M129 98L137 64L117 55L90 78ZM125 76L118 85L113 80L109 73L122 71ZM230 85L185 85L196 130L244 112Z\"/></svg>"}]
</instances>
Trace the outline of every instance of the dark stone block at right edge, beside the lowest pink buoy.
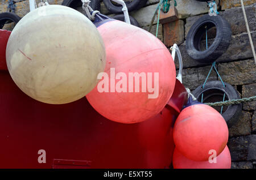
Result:
<instances>
[{"instance_id":1,"label":"dark stone block at right edge, beside the lowest pink buoy","mask_svg":"<svg viewBox=\"0 0 256 180\"><path fill-rule=\"evenodd\" d=\"M228 147L232 161L254 161L256 159L256 135L230 138Z\"/></svg>"}]
</instances>

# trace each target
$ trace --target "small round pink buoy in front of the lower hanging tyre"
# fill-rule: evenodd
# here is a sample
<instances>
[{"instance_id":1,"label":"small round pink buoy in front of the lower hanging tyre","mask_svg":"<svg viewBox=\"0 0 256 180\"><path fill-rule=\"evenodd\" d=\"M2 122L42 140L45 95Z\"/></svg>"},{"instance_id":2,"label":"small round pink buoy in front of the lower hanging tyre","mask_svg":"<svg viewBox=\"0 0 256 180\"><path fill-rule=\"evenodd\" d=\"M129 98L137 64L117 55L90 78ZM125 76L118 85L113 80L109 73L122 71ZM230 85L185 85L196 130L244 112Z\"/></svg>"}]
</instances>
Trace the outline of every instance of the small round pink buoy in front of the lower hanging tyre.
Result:
<instances>
[{"instance_id":1,"label":"small round pink buoy in front of the lower hanging tyre","mask_svg":"<svg viewBox=\"0 0 256 180\"><path fill-rule=\"evenodd\" d=\"M218 156L228 142L228 134L221 114L205 104L183 109L174 125L177 150L193 161L207 161L213 151Z\"/></svg>"}]
</instances>

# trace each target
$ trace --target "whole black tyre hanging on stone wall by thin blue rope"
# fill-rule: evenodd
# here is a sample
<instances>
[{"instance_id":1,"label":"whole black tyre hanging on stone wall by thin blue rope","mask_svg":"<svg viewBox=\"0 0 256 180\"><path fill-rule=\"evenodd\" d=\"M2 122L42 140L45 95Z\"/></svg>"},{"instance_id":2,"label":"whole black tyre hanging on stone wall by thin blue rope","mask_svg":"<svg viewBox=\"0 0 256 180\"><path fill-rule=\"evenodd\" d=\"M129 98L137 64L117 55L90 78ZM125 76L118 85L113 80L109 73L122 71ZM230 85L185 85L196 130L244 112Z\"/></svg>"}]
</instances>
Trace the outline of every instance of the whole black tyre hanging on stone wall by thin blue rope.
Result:
<instances>
[{"instance_id":1,"label":"whole black tyre hanging on stone wall by thin blue rope","mask_svg":"<svg viewBox=\"0 0 256 180\"><path fill-rule=\"evenodd\" d=\"M200 41L204 35L206 25L208 28L216 27L216 37L207 50L200 51ZM226 52L230 44L231 35L232 31L229 23L220 15L204 15L192 25L188 32L186 40L187 53L198 62L212 63Z\"/></svg>"}]
</instances>

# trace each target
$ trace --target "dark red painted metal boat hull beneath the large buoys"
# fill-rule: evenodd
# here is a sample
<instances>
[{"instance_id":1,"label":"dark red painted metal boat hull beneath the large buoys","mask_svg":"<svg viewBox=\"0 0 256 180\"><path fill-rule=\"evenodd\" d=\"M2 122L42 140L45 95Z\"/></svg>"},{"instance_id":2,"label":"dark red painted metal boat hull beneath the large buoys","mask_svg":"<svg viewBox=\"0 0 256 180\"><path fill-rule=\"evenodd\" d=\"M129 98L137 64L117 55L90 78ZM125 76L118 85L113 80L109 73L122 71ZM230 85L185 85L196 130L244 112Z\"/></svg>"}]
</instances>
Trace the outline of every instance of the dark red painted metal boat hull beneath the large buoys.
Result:
<instances>
[{"instance_id":1,"label":"dark red painted metal boat hull beneath the large buoys","mask_svg":"<svg viewBox=\"0 0 256 180\"><path fill-rule=\"evenodd\" d=\"M187 96L184 89L174 91ZM73 162L75 168L167 168L179 114L173 112L185 102L172 98L156 117L123 124L102 117L85 97L63 105L36 101L0 70L0 168L71 168ZM38 162L40 149L46 163Z\"/></svg>"}]
</instances>

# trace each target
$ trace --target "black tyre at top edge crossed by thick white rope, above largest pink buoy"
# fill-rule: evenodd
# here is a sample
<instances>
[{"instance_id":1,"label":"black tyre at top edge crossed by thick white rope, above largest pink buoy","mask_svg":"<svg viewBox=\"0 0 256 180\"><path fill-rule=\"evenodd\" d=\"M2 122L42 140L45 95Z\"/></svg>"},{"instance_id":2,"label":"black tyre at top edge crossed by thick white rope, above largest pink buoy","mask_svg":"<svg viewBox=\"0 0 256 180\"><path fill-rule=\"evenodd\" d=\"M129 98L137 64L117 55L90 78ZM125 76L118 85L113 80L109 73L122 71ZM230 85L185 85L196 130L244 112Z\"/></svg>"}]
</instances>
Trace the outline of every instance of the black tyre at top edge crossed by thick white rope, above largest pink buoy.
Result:
<instances>
[{"instance_id":1,"label":"black tyre at top edge crossed by thick white rope, above largest pink buoy","mask_svg":"<svg viewBox=\"0 0 256 180\"><path fill-rule=\"evenodd\" d=\"M120 14L123 13L121 5L114 5L111 0L103 0L104 5L109 10L109 12L113 14ZM137 10L138 8L143 7L146 5L147 0L134 0L132 2L125 2L128 11Z\"/></svg>"}]
</instances>

